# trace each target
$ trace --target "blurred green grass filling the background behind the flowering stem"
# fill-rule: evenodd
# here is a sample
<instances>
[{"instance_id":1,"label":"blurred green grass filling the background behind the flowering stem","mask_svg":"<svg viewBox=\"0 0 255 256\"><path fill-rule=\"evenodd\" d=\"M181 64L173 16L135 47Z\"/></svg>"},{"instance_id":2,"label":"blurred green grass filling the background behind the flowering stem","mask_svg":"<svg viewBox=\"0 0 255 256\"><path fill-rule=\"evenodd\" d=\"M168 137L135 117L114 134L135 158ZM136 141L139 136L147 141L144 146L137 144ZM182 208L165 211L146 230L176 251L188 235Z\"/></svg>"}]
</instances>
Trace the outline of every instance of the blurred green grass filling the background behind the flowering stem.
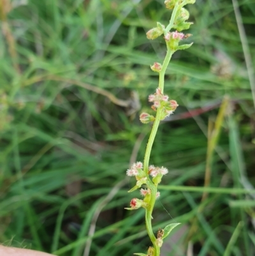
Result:
<instances>
[{"instance_id":1,"label":"blurred green grass filling the background behind the flowering stem","mask_svg":"<svg viewBox=\"0 0 255 256\"><path fill-rule=\"evenodd\" d=\"M146 252L143 210L124 210L139 197L125 176L143 160L150 126L138 116L157 87L149 65L166 52L145 32L170 11L159 0L0 3L0 243L72 256ZM233 3L187 6L194 45L166 73L165 93L180 107L152 149L151 163L169 170L154 227L182 225L162 255L255 254L255 2Z\"/></svg>"}]
</instances>

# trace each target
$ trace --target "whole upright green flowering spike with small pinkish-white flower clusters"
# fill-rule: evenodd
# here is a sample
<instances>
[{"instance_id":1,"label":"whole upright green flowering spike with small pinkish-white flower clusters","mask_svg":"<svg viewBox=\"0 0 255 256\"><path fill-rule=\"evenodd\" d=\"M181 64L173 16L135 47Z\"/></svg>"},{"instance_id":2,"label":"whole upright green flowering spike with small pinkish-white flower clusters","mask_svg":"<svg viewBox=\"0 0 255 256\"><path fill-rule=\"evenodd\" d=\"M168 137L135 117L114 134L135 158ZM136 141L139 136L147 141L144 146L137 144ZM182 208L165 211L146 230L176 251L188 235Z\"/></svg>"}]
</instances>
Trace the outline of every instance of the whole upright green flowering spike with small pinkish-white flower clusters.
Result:
<instances>
[{"instance_id":1,"label":"whole upright green flowering spike with small pinkish-white flower clusters","mask_svg":"<svg viewBox=\"0 0 255 256\"><path fill-rule=\"evenodd\" d=\"M152 103L152 109L155 110L156 117L150 116L150 114L142 113L140 115L140 121L142 123L149 123L150 121L155 121L152 126L152 132L149 136L149 142L147 144L145 150L145 158L144 158L144 167L142 162L134 163L130 169L127 170L128 176L135 176L136 185L129 190L129 192L133 192L140 188L140 194L143 196L143 200L140 199L132 199L129 210L138 209L140 207L145 208L145 222L147 231L150 234L150 239L154 245L154 247L149 247L147 255L145 253L135 253L135 255L139 256L157 256L160 254L160 248L163 245L163 239L168 234L170 234L171 229L175 227L177 224L170 224L165 227L165 229L161 229L160 233L157 233L157 237L154 236L152 230L152 211L154 208L155 200L159 198L160 193L157 191L157 185L161 182L161 179L164 175L168 173L168 169L165 167L154 167L154 165L149 164L150 160L150 152L152 149L152 145L154 142L155 135L157 133L157 129L161 120L165 117L170 116L177 109L178 104L175 100L169 100L168 95L163 94L164 91L164 75L166 72L166 68L168 63L170 62L171 56L177 50L184 50L191 46L190 45L179 45L181 40L184 40L191 36L191 34L183 34L180 31L184 29L188 29L192 22L186 22L189 18L189 11L184 8L186 4L193 4L195 0L165 0L164 3L166 8L174 9L172 11L171 19L167 27L164 27L161 23L157 22L157 27L150 29L147 32L147 38L150 40L154 40L157 37L164 35L164 40L166 42L167 54L164 58L163 64L154 63L150 68L152 71L159 73L159 87L157 87L156 92L154 94L149 95L149 102ZM175 31L172 31L172 30ZM170 32L171 31L171 32ZM141 186L145 186L146 188L141 188Z\"/></svg>"}]
</instances>

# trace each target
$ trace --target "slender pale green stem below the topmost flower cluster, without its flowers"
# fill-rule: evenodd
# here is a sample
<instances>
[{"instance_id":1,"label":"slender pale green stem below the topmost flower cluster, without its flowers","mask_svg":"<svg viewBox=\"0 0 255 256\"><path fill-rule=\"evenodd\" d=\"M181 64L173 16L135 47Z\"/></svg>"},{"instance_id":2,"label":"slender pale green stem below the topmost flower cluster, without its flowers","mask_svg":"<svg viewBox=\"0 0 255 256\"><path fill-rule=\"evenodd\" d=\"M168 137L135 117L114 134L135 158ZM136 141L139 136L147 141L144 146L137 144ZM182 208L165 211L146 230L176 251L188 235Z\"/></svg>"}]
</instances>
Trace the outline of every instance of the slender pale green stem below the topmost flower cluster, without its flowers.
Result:
<instances>
[{"instance_id":1,"label":"slender pale green stem below the topmost flower cluster, without its flowers","mask_svg":"<svg viewBox=\"0 0 255 256\"><path fill-rule=\"evenodd\" d=\"M166 57L164 58L163 66L161 68L161 71L159 72L159 88L161 89L161 93L163 93L163 91L164 91L164 74L166 73L166 68L170 62L172 55L173 55L173 51L171 51L171 49L168 48ZM149 202L149 206L145 209L145 223L146 223L146 229L149 234L150 240L152 241L152 244L154 245L154 255L155 256L159 256L160 248L156 244L156 237L154 236L154 233L152 230L151 220L152 220L152 211L153 211L154 204L156 201L157 186L154 183L152 183L152 181L150 180L148 170L149 170L150 153L152 150L152 145L153 145L154 139L156 137L157 129L159 128L161 112L162 112L162 108L159 107L159 109L157 109L156 118L155 118L154 124L152 126L152 131L150 132L150 137L149 137L148 144L146 147L144 163L143 163L143 170L145 170L145 174L148 179L147 184L148 184L148 187L151 192L151 199Z\"/></svg>"}]
</instances>

